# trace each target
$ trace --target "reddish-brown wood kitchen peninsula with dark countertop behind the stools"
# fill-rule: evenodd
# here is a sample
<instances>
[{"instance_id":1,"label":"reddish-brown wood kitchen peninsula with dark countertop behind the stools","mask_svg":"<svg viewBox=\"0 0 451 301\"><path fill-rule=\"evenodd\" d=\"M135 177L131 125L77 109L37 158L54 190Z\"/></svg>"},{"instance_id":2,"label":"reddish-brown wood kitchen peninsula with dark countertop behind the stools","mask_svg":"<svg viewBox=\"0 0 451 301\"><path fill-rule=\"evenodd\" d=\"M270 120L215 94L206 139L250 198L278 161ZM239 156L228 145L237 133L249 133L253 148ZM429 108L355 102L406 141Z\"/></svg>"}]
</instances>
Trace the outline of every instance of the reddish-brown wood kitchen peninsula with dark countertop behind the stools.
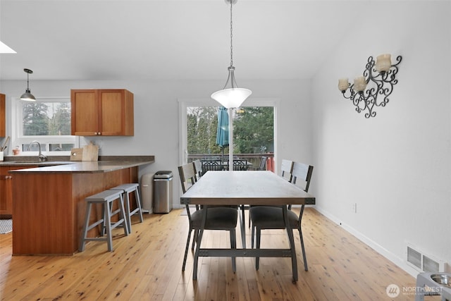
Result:
<instances>
[{"instance_id":1,"label":"reddish-brown wood kitchen peninsula with dark countertop behind the stools","mask_svg":"<svg viewBox=\"0 0 451 301\"><path fill-rule=\"evenodd\" d=\"M82 235L85 198L124 183L138 183L139 167L154 162L154 156L99 159L57 161L53 166L50 161L45 162L47 166L10 171L13 255L73 255ZM95 231L89 235L97 235Z\"/></svg>"}]
</instances>

